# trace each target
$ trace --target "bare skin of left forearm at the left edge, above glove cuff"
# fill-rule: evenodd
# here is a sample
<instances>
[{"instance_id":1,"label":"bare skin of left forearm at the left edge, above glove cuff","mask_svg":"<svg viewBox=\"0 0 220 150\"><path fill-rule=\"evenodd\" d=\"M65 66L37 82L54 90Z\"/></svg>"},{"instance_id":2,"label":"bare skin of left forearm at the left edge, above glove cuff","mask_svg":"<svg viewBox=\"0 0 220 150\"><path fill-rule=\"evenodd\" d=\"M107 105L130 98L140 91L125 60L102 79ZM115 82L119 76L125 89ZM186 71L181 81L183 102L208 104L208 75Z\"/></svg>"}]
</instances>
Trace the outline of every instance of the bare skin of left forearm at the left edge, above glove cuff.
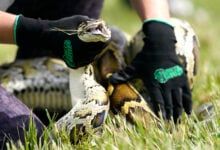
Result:
<instances>
[{"instance_id":1,"label":"bare skin of left forearm at the left edge, above glove cuff","mask_svg":"<svg viewBox=\"0 0 220 150\"><path fill-rule=\"evenodd\" d=\"M14 44L15 15L0 11L0 43Z\"/></svg>"}]
</instances>

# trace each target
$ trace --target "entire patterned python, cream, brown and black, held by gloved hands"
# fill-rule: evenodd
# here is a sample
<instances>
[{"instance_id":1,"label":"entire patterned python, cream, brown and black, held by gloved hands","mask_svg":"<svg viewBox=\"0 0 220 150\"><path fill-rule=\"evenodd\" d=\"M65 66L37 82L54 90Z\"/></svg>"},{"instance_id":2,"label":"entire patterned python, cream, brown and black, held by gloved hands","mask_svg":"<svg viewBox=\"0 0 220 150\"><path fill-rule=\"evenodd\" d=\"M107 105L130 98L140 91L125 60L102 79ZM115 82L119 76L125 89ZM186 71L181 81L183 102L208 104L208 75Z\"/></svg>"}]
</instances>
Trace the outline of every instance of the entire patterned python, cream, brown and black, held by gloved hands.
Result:
<instances>
[{"instance_id":1,"label":"entire patterned python, cream, brown and black, held by gloved hands","mask_svg":"<svg viewBox=\"0 0 220 150\"><path fill-rule=\"evenodd\" d=\"M177 38L176 52L193 87L199 60L198 38L189 23L179 19L173 19L172 23ZM110 30L101 20L84 23L71 31L53 30L67 34L80 31L78 36L86 42L89 39L106 41L111 36L111 42L92 64L77 70L49 57L17 60L4 65L0 68L0 82L5 89L13 92L30 108L69 111L55 125L58 130L66 129L73 141L76 140L74 133L84 135L90 129L100 128L109 107L131 123L141 122L149 126L151 122L159 121L148 106L146 97L133 84L113 86L108 83L109 74L121 69L125 62L129 63L141 49L142 32L127 39L120 30L111 27L110 35ZM85 32L85 36L85 30L91 34Z\"/></svg>"}]
</instances>

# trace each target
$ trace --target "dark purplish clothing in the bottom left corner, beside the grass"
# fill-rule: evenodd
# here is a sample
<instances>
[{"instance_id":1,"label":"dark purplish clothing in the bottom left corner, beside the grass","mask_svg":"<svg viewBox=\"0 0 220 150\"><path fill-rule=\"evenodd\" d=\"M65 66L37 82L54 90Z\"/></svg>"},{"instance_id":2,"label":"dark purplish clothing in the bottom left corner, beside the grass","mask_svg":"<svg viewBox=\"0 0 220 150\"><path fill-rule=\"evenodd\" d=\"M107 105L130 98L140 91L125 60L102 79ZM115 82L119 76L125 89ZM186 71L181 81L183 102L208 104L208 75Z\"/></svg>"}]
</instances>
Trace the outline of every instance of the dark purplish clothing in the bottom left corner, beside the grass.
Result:
<instances>
[{"instance_id":1,"label":"dark purplish clothing in the bottom left corner, beside the grass","mask_svg":"<svg viewBox=\"0 0 220 150\"><path fill-rule=\"evenodd\" d=\"M44 125L31 114L26 105L0 86L0 149L5 149L5 143L10 140L24 142L24 130L28 130L30 116L36 125L37 137L42 135Z\"/></svg>"}]
</instances>

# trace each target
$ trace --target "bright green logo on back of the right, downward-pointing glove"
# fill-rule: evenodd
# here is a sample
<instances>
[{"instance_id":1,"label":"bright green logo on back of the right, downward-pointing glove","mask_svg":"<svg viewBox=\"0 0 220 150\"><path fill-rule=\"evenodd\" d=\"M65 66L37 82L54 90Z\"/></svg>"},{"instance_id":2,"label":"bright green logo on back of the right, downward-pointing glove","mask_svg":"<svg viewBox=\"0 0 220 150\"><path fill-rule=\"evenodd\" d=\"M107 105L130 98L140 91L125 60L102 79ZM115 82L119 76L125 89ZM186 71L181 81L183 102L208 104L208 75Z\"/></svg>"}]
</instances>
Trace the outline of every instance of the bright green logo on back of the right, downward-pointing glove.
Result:
<instances>
[{"instance_id":1,"label":"bright green logo on back of the right, downward-pointing glove","mask_svg":"<svg viewBox=\"0 0 220 150\"><path fill-rule=\"evenodd\" d=\"M181 76L183 74L183 69L176 65L167 69L157 69L154 72L154 78L160 83L166 83L168 80Z\"/></svg>"}]
</instances>

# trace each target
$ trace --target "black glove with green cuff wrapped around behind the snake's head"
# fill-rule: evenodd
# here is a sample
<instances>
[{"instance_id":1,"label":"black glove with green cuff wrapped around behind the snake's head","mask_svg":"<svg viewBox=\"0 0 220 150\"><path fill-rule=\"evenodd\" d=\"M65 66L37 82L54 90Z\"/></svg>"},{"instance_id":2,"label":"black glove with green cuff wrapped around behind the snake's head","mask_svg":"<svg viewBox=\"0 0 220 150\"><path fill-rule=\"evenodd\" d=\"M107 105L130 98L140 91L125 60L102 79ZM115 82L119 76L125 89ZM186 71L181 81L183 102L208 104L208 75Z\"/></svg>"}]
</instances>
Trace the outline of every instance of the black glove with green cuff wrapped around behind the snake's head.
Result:
<instances>
[{"instance_id":1,"label":"black glove with green cuff wrapped around behind the snake's head","mask_svg":"<svg viewBox=\"0 0 220 150\"><path fill-rule=\"evenodd\" d=\"M15 22L15 42L18 46L53 50L56 56L63 56L66 64L77 68L93 61L105 43L83 42L77 34L68 35L59 29L77 29L80 23L92 20L86 16L75 15L57 21L36 20L19 16Z\"/></svg>"}]
</instances>

